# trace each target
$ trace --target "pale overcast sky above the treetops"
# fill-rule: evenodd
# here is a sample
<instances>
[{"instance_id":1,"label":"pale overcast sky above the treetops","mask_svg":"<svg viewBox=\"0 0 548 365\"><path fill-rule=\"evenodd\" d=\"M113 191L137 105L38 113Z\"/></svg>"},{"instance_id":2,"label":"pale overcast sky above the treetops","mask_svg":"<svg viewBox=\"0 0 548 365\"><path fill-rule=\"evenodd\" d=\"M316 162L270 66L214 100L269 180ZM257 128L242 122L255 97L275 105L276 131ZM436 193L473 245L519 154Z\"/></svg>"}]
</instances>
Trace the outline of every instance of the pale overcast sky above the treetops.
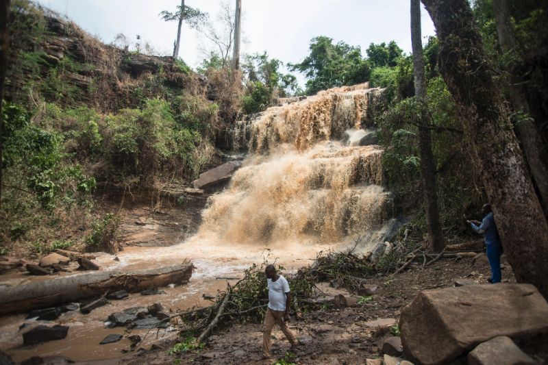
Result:
<instances>
[{"instance_id":1,"label":"pale overcast sky above the treetops","mask_svg":"<svg viewBox=\"0 0 548 365\"><path fill-rule=\"evenodd\" d=\"M234 0L229 0L234 6ZM131 40L139 34L160 54L173 52L177 22L166 23L158 13L174 11L179 0L38 0L110 43L123 33ZM186 0L186 5L219 12L220 0ZM299 62L308 54L310 39L329 36L336 42L360 46L362 54L371 42L395 40L411 52L409 0L242 0L242 32L247 42L242 52L267 51L282 62ZM422 10L423 41L435 34L427 12ZM203 58L206 42L197 31L184 27L179 55L195 68ZM207 45L206 45L207 47ZM301 77L299 77L301 79ZM302 79L301 79L302 81Z\"/></svg>"}]
</instances>

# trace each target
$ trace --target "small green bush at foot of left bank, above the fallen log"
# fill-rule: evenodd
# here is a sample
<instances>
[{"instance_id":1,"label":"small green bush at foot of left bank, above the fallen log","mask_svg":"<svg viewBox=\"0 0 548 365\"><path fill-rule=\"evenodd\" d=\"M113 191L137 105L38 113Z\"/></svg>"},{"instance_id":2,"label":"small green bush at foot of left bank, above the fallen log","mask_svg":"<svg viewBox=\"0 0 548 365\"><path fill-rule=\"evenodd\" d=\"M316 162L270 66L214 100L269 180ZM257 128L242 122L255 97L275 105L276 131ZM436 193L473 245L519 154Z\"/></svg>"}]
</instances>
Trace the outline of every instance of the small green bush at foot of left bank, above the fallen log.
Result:
<instances>
[{"instance_id":1,"label":"small green bush at foot of left bank, above the fallen log","mask_svg":"<svg viewBox=\"0 0 548 365\"><path fill-rule=\"evenodd\" d=\"M119 225L120 217L114 213L107 213L103 218L93 221L90 234L84 238L87 249L89 251L116 252Z\"/></svg>"}]
</instances>

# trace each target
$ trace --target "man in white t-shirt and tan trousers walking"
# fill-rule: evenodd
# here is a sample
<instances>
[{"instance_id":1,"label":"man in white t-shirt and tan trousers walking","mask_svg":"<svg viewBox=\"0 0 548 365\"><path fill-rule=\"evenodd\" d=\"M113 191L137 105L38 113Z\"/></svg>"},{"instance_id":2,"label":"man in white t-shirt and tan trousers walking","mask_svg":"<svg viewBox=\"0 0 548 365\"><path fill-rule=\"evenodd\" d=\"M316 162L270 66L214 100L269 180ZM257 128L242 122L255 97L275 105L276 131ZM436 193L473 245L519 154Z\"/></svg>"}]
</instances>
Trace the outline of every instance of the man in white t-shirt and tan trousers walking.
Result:
<instances>
[{"instance_id":1,"label":"man in white t-shirt and tan trousers walking","mask_svg":"<svg viewBox=\"0 0 548 365\"><path fill-rule=\"evenodd\" d=\"M277 323L286 335L291 344L291 348L299 345L293 333L289 331L284 320L289 320L289 307L291 303L291 293L289 284L285 277L277 275L274 265L266 266L266 282L269 286L269 305L266 308L264 316L264 327L262 329L262 355L264 358L271 357L271 331L274 324Z\"/></svg>"}]
</instances>

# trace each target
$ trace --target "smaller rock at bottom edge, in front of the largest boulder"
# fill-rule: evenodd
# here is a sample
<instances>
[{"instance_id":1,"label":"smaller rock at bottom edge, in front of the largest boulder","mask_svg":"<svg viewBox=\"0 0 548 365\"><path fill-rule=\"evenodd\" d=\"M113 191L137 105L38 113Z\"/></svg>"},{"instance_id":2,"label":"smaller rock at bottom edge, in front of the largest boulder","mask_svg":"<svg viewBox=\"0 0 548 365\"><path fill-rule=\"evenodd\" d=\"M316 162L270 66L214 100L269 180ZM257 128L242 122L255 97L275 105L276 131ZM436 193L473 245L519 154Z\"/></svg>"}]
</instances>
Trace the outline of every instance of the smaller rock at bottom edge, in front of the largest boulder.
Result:
<instances>
[{"instance_id":1,"label":"smaller rock at bottom edge, in front of the largest boulder","mask_svg":"<svg viewBox=\"0 0 548 365\"><path fill-rule=\"evenodd\" d=\"M525 365L536 364L506 336L495 337L478 344L468 354L469 365Z\"/></svg>"}]
</instances>

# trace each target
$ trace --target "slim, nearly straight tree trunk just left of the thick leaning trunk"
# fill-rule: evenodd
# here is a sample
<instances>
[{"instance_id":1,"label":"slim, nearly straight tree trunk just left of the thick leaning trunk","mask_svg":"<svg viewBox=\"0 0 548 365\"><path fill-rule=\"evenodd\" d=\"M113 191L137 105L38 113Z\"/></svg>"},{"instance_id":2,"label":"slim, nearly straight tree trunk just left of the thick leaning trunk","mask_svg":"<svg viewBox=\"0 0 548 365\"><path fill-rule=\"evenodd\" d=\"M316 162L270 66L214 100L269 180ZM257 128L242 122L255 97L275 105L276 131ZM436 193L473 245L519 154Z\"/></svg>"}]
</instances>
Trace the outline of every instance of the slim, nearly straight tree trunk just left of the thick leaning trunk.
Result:
<instances>
[{"instance_id":1,"label":"slim, nearly straight tree trunk just left of the thick leaning trunk","mask_svg":"<svg viewBox=\"0 0 548 365\"><path fill-rule=\"evenodd\" d=\"M421 110L426 104L426 78L424 75L423 44L421 40L421 1L411 0L411 44L413 49L413 69L415 95L421 103ZM438 193L436 191L436 166L432 153L432 132L425 125L425 113L419 121L419 156L421 158L421 179L423 182L423 199L426 213L426 227L430 252L440 252L445 247L443 230L438 210Z\"/></svg>"}]
</instances>

